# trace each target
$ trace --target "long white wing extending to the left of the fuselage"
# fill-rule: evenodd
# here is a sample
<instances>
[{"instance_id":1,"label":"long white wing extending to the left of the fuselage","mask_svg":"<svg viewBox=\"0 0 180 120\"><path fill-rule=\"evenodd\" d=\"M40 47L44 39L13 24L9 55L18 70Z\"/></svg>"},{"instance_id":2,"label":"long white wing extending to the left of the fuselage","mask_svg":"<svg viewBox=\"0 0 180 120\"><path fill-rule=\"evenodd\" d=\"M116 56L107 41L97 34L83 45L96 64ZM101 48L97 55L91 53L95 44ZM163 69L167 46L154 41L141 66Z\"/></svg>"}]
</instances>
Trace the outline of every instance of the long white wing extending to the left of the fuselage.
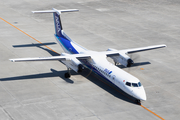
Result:
<instances>
[{"instance_id":1,"label":"long white wing extending to the left of the fuselage","mask_svg":"<svg viewBox=\"0 0 180 120\"><path fill-rule=\"evenodd\" d=\"M77 59L88 59L91 56L86 54L66 54L65 56L51 56L51 57L37 57L37 58L17 58L17 59L9 59L11 62L23 62L23 61L51 61L51 60L60 60L67 61L73 58Z\"/></svg>"}]
</instances>

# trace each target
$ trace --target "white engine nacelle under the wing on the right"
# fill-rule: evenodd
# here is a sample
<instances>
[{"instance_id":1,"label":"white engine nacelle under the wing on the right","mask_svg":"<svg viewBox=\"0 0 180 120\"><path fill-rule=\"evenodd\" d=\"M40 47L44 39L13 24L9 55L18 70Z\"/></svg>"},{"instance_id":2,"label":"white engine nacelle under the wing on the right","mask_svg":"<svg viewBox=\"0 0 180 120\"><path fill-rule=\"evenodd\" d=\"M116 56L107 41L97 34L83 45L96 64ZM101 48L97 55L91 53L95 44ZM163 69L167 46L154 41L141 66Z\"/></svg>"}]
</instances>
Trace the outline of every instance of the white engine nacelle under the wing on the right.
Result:
<instances>
[{"instance_id":1,"label":"white engine nacelle under the wing on the right","mask_svg":"<svg viewBox=\"0 0 180 120\"><path fill-rule=\"evenodd\" d=\"M107 51L117 51L117 50L109 48ZM125 53L119 53L119 55L111 56L110 58L112 58L115 63L120 63L125 67L130 67L132 64L134 64L133 60Z\"/></svg>"}]
</instances>

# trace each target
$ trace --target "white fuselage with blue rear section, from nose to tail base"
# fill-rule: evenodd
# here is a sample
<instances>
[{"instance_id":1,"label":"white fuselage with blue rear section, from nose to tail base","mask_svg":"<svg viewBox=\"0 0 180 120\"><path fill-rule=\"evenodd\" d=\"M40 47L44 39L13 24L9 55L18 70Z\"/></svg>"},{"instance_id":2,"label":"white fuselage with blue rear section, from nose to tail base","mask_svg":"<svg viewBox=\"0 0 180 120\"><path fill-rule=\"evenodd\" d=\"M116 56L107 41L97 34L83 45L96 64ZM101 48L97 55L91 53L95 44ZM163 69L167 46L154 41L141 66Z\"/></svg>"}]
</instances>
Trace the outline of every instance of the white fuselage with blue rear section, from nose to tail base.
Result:
<instances>
[{"instance_id":1,"label":"white fuselage with blue rear section, from nose to tail base","mask_svg":"<svg viewBox=\"0 0 180 120\"><path fill-rule=\"evenodd\" d=\"M73 41L69 41L68 46L65 46L59 38L55 38L66 53L91 55L91 59L83 62L83 64L89 69L92 69L95 73L110 81L136 99L143 101L146 100L146 93L139 79L108 62L105 54L87 50ZM73 50L77 53L73 53Z\"/></svg>"}]
</instances>

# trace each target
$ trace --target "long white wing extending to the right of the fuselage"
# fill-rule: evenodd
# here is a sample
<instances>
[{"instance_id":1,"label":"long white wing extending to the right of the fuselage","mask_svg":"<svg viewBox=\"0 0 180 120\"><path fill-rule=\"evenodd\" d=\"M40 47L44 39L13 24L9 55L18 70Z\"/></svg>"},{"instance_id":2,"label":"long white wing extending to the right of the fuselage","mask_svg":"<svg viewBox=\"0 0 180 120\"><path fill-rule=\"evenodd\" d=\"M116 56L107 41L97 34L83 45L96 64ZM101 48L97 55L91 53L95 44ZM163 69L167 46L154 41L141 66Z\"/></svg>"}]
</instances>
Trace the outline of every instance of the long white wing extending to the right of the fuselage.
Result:
<instances>
[{"instance_id":1,"label":"long white wing extending to the right of the fuselage","mask_svg":"<svg viewBox=\"0 0 180 120\"><path fill-rule=\"evenodd\" d=\"M166 45L162 44L162 45L154 45L154 46L140 47L134 49L106 51L105 54L107 57L112 57L112 56L118 56L120 53L131 54L131 53L143 52L143 51L154 50L164 47L166 47Z\"/></svg>"}]
</instances>

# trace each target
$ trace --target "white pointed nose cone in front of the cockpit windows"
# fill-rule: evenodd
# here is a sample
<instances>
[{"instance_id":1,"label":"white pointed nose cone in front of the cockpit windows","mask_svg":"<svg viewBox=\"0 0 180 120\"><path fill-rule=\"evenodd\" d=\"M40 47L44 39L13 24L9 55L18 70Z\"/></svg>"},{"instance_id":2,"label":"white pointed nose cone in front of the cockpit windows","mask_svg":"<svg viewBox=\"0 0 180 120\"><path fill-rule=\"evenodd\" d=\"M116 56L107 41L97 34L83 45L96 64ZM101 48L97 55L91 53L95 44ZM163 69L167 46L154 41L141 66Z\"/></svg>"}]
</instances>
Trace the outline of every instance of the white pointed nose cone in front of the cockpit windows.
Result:
<instances>
[{"instance_id":1,"label":"white pointed nose cone in front of the cockpit windows","mask_svg":"<svg viewBox=\"0 0 180 120\"><path fill-rule=\"evenodd\" d=\"M133 90L133 95L135 98L139 99L139 100L143 100L146 101L146 93L144 90L144 87L141 86L140 88L136 88Z\"/></svg>"}]
</instances>

